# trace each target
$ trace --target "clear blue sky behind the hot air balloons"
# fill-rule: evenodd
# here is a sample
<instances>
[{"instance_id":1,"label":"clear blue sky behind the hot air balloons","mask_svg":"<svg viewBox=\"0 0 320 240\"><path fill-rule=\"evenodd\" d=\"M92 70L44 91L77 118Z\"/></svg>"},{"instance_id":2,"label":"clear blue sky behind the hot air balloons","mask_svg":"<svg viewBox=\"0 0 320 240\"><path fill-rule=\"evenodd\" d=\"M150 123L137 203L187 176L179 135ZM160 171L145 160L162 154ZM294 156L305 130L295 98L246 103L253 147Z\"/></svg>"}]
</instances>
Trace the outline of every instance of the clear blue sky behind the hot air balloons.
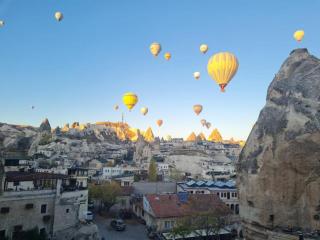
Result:
<instances>
[{"instance_id":1,"label":"clear blue sky behind the hot air balloons","mask_svg":"<svg viewBox=\"0 0 320 240\"><path fill-rule=\"evenodd\" d=\"M290 52L307 47L320 55L319 8L318 0L0 0L0 122L39 126L48 118L56 127L121 121L123 113L132 127L187 137L209 134L204 118L225 139L246 139ZM305 31L301 43L292 37L297 29ZM155 41L157 58L149 51ZM225 93L206 70L221 51L239 61ZM139 97L131 112L125 92ZM192 110L198 103L200 116Z\"/></svg>"}]
</instances>

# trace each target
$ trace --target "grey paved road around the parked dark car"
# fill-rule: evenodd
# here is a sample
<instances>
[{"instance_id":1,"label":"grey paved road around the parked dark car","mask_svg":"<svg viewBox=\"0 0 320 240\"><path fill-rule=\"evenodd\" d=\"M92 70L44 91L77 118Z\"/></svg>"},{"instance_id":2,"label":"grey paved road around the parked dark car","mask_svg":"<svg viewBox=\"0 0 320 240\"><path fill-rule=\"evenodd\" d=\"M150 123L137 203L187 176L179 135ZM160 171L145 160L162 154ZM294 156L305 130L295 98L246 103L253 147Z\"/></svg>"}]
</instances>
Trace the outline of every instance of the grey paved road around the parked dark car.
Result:
<instances>
[{"instance_id":1,"label":"grey paved road around the parked dark car","mask_svg":"<svg viewBox=\"0 0 320 240\"><path fill-rule=\"evenodd\" d=\"M118 232L110 227L110 219L95 215L94 222L98 225L100 236L105 240L147 240L145 225L133 220L126 221L127 227L123 232Z\"/></svg>"}]
</instances>

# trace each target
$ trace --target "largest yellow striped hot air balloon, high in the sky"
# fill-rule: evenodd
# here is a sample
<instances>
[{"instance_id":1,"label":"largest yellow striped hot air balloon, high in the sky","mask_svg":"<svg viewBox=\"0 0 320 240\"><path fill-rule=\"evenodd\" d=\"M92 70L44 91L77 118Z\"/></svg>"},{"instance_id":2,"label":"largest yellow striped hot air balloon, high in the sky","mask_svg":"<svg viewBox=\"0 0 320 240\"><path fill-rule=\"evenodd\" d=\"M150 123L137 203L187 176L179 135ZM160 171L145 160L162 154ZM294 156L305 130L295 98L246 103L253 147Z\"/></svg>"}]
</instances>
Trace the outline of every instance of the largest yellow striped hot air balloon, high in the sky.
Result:
<instances>
[{"instance_id":1,"label":"largest yellow striped hot air balloon, high in the sky","mask_svg":"<svg viewBox=\"0 0 320 240\"><path fill-rule=\"evenodd\" d=\"M219 84L224 92L225 87L231 81L238 70L238 60L235 55L229 52L220 52L213 55L207 65L208 74Z\"/></svg>"}]
</instances>

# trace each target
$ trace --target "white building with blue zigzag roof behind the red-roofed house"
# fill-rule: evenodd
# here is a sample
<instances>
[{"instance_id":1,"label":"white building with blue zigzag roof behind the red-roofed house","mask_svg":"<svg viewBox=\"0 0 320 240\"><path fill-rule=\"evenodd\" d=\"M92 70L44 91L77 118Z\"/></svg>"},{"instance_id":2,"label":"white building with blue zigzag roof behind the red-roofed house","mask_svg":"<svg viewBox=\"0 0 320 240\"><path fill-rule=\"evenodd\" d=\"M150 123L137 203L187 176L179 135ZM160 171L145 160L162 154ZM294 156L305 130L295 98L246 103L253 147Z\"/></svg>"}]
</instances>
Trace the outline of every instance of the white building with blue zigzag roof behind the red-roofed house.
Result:
<instances>
[{"instance_id":1,"label":"white building with blue zigzag roof behind the red-roofed house","mask_svg":"<svg viewBox=\"0 0 320 240\"><path fill-rule=\"evenodd\" d=\"M229 181L194 181L177 183L177 192L188 192L190 194L215 194L235 214L239 214L239 198L236 183Z\"/></svg>"}]
</instances>

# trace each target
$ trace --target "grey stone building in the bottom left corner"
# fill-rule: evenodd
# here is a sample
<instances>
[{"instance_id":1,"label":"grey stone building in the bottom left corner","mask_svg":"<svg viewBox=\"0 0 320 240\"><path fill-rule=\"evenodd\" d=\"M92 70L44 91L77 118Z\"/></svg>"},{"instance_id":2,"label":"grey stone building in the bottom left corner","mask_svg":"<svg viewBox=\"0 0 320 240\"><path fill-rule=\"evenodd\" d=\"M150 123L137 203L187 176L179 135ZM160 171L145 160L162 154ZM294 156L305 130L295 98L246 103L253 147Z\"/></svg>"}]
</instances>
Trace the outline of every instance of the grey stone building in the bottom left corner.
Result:
<instances>
[{"instance_id":1,"label":"grey stone building in the bottom left corner","mask_svg":"<svg viewBox=\"0 0 320 240\"><path fill-rule=\"evenodd\" d=\"M13 171L0 182L0 239L35 227L51 239L71 239L85 220L87 183L77 184L76 175Z\"/></svg>"}]
</instances>

